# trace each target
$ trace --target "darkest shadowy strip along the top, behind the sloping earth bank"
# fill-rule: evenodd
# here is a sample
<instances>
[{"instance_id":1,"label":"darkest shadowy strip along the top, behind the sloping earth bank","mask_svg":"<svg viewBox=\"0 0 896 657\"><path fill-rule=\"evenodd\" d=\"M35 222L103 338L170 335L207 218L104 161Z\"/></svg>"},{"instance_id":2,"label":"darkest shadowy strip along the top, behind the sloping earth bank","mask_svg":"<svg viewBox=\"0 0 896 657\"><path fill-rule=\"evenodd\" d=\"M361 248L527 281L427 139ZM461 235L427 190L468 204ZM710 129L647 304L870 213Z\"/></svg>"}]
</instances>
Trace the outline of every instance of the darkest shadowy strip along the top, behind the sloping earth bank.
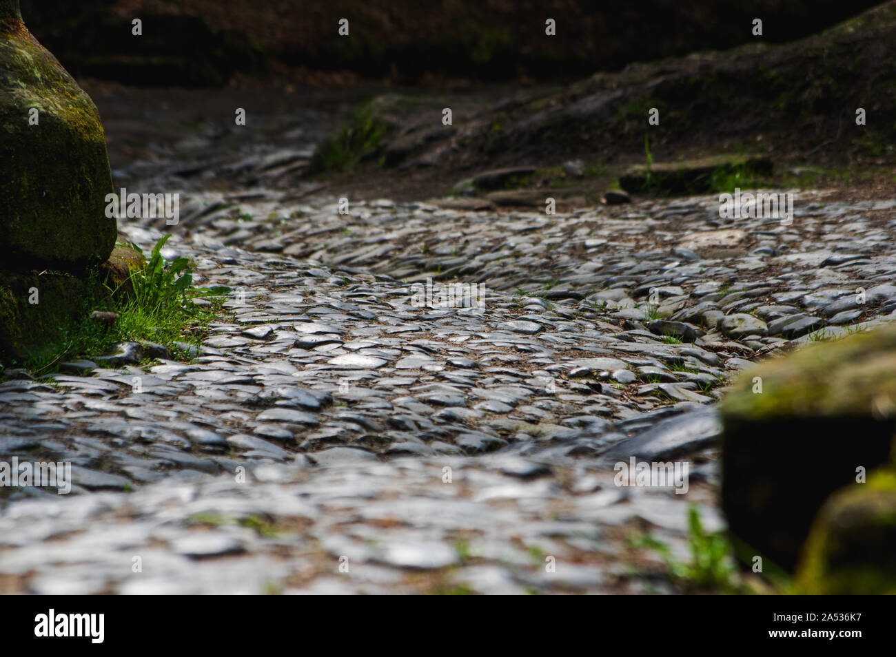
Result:
<instances>
[{"instance_id":1,"label":"darkest shadowy strip along the top, behind the sloping earth bank","mask_svg":"<svg viewBox=\"0 0 896 657\"><path fill-rule=\"evenodd\" d=\"M813 34L876 0L22 0L76 77L220 86L240 76L333 81L569 81L635 61ZM143 21L142 37L131 21ZM350 36L337 35L340 18ZM556 37L545 36L547 18ZM348 76L346 76L348 73ZM326 76L314 78L326 81Z\"/></svg>"}]
</instances>

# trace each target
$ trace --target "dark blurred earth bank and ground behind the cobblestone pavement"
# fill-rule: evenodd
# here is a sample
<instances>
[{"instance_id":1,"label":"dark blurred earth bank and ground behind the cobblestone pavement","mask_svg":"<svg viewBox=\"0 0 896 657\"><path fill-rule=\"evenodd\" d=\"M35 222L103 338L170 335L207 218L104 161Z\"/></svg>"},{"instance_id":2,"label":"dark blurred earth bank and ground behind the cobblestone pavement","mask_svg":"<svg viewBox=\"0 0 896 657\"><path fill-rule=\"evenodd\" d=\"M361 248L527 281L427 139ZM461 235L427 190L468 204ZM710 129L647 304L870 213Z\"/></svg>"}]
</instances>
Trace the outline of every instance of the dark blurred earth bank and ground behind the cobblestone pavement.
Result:
<instances>
[{"instance_id":1,"label":"dark blurred earth bank and ground behind the cobblestone pavement","mask_svg":"<svg viewBox=\"0 0 896 657\"><path fill-rule=\"evenodd\" d=\"M288 149L265 184L328 176L408 200L523 166L539 171L530 186L593 201L644 161L651 107L658 162L772 158L775 178L754 184L894 177L896 0L22 0L22 13L97 103L121 183L251 186L231 173ZM860 131L856 107L873 117ZM553 170L577 160L589 175Z\"/></svg>"}]
</instances>

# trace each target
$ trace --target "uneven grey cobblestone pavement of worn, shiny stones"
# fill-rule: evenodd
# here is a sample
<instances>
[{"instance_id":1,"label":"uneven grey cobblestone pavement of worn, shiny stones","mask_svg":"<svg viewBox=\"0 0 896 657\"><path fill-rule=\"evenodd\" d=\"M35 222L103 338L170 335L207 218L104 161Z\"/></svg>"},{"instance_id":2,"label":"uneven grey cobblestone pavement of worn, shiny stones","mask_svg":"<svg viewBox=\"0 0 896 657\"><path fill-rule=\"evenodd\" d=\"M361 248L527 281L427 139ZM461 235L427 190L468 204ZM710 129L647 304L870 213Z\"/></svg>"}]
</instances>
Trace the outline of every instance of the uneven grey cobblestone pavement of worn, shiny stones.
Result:
<instances>
[{"instance_id":1,"label":"uneven grey cobblestone pavement of worn, shiny stones","mask_svg":"<svg viewBox=\"0 0 896 657\"><path fill-rule=\"evenodd\" d=\"M451 205L191 192L163 254L233 288L192 361L0 383L3 459L73 465L0 491L0 590L672 593L630 539L723 526L728 378L896 311L894 201ZM617 486L630 456L687 491Z\"/></svg>"}]
</instances>

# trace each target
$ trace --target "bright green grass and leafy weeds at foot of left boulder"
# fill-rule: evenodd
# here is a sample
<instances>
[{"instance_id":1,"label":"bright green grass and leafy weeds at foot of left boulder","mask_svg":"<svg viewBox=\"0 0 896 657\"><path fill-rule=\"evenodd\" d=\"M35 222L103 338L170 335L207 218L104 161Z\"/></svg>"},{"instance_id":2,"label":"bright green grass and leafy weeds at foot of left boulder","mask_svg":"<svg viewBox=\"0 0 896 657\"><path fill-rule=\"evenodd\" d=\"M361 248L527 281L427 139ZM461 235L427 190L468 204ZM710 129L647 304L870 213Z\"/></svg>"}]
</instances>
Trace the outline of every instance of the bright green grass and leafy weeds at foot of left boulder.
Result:
<instances>
[{"instance_id":1,"label":"bright green grass and leafy weeds at foot of left boulder","mask_svg":"<svg viewBox=\"0 0 896 657\"><path fill-rule=\"evenodd\" d=\"M189 261L166 262L161 256L168 237L153 247L146 267L131 269L130 277L119 286L109 286L99 273L92 273L81 319L61 326L52 344L9 364L23 367L32 376L44 376L57 371L60 363L107 353L122 342L151 342L168 347L173 354L183 351L178 344L198 345L211 320L220 316L223 294L230 290L192 287ZM113 311L118 317L114 322L97 320L90 317L92 311Z\"/></svg>"}]
</instances>

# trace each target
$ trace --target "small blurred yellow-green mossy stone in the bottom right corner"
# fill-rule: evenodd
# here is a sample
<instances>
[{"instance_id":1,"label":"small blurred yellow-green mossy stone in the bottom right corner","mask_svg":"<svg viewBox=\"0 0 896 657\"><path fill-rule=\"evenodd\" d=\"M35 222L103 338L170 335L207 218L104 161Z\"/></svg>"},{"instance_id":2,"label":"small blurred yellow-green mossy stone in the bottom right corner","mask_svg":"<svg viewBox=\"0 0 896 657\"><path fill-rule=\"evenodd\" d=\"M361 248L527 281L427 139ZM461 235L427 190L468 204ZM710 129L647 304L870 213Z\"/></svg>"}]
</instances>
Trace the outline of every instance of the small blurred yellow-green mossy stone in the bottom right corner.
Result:
<instances>
[{"instance_id":1,"label":"small blurred yellow-green mossy stone in the bottom right corner","mask_svg":"<svg viewBox=\"0 0 896 657\"><path fill-rule=\"evenodd\" d=\"M876 472L825 502L795 589L808 595L896 594L896 471Z\"/></svg>"}]
</instances>

